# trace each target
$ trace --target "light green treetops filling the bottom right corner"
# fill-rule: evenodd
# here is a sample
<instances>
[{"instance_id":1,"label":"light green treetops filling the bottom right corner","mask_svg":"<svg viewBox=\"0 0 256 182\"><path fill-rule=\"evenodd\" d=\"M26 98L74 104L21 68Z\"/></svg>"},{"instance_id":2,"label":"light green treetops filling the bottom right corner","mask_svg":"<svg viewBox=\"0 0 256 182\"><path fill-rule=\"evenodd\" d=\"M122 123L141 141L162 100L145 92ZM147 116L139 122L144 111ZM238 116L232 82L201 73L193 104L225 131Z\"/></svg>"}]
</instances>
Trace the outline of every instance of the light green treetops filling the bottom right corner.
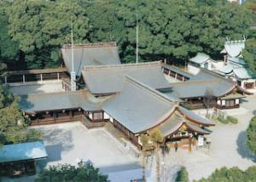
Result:
<instances>
[{"instance_id":1,"label":"light green treetops filling the bottom right corner","mask_svg":"<svg viewBox=\"0 0 256 182\"><path fill-rule=\"evenodd\" d=\"M197 182L252 182L255 181L256 166L242 171L240 168L220 168L216 169L207 179L196 180Z\"/></svg>"}]
</instances>

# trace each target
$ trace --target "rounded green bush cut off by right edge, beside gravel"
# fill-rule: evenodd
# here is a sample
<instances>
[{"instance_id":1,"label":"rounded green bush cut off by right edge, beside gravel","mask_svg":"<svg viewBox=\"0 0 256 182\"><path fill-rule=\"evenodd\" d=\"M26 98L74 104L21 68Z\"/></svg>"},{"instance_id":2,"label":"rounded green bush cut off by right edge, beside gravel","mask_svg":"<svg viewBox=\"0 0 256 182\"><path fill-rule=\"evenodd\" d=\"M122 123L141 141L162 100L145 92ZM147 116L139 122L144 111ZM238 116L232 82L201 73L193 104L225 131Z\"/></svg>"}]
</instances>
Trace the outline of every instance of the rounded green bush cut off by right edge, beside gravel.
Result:
<instances>
[{"instance_id":1,"label":"rounded green bush cut off by right edge, beside gravel","mask_svg":"<svg viewBox=\"0 0 256 182\"><path fill-rule=\"evenodd\" d=\"M247 147L249 151L256 154L256 117L251 119L247 128Z\"/></svg>"}]
</instances>

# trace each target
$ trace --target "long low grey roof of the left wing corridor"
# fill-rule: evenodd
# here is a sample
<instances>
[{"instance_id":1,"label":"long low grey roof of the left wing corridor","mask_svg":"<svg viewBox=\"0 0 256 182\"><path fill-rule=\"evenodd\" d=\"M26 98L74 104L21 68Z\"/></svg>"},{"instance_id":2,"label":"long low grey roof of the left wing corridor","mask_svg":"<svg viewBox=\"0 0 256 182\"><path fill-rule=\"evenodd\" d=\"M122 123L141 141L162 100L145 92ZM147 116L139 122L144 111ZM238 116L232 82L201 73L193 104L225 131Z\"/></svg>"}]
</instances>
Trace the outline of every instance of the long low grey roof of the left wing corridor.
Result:
<instances>
[{"instance_id":1,"label":"long low grey roof of the left wing corridor","mask_svg":"<svg viewBox=\"0 0 256 182\"><path fill-rule=\"evenodd\" d=\"M20 97L20 109L26 112L55 111L84 107L85 111L100 109L102 100L93 100L88 90L48 94L28 94Z\"/></svg>"}]
</instances>

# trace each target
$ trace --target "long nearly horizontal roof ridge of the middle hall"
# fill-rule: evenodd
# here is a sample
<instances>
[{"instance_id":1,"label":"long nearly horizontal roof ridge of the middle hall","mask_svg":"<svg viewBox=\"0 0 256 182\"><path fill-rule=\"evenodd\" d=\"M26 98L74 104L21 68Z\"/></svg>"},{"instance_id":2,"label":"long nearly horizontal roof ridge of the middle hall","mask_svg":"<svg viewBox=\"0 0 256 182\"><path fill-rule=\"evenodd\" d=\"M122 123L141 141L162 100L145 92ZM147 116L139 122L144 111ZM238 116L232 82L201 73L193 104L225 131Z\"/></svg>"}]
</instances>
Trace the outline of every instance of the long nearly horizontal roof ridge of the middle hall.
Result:
<instances>
[{"instance_id":1,"label":"long nearly horizontal roof ridge of the middle hall","mask_svg":"<svg viewBox=\"0 0 256 182\"><path fill-rule=\"evenodd\" d=\"M150 65L161 65L160 60L152 62L141 62L141 63L129 63L120 65L84 65L83 71L95 71L95 70L109 70L115 68L127 68L127 67L143 67Z\"/></svg>"}]
</instances>

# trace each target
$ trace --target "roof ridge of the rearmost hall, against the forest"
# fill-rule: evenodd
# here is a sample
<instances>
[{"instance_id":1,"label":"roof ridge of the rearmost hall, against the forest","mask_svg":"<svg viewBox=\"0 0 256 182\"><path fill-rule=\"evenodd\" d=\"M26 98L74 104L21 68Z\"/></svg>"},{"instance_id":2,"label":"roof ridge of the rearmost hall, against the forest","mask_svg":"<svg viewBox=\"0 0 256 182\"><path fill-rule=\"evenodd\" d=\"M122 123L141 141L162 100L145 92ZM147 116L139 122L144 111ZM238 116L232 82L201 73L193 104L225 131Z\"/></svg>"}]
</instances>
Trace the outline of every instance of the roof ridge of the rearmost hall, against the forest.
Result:
<instances>
[{"instance_id":1,"label":"roof ridge of the rearmost hall, against the forest","mask_svg":"<svg viewBox=\"0 0 256 182\"><path fill-rule=\"evenodd\" d=\"M105 47L117 47L116 42L110 43L78 43L73 44L73 48L105 48ZM72 44L64 44L62 48L72 48Z\"/></svg>"}]
</instances>

